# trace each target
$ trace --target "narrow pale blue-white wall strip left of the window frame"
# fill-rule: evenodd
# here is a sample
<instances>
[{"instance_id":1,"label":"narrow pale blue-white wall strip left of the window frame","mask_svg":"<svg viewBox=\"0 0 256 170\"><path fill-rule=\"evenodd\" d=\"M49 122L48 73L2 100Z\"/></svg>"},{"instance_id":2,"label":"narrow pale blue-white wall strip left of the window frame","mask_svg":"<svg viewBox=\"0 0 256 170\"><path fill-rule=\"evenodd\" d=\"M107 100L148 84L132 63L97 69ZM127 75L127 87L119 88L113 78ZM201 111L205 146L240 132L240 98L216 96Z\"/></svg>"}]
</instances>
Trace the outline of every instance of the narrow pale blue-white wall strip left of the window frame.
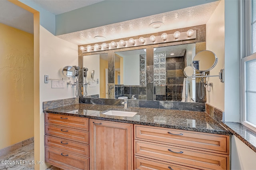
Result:
<instances>
[{"instance_id":1,"label":"narrow pale blue-white wall strip left of the window frame","mask_svg":"<svg viewBox=\"0 0 256 170\"><path fill-rule=\"evenodd\" d=\"M225 1L225 121L240 122L239 0Z\"/></svg>"}]
</instances>

